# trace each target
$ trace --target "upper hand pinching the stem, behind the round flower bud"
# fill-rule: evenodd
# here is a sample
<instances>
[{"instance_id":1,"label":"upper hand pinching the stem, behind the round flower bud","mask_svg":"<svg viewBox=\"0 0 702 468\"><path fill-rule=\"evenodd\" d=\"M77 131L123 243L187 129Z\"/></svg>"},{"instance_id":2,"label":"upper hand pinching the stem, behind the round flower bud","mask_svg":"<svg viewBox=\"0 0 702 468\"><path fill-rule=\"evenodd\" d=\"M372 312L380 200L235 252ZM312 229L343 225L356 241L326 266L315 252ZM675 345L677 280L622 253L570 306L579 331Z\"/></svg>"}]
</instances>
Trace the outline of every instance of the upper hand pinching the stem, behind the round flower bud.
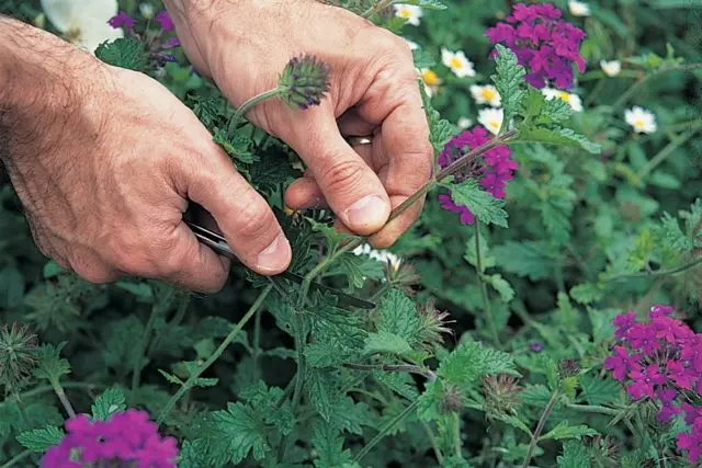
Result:
<instances>
[{"instance_id":1,"label":"upper hand pinching the stem, behind the round flower bud","mask_svg":"<svg viewBox=\"0 0 702 468\"><path fill-rule=\"evenodd\" d=\"M331 66L331 90L319 107L301 112L270 100L248 114L309 168L287 190L290 207L328 204L340 228L373 235L371 243L378 248L411 226L423 198L383 228L390 209L432 169L417 73L403 39L315 0L166 3L190 59L235 106L275 88L293 56L313 54ZM372 145L351 148L343 139L371 134Z\"/></svg>"}]
</instances>

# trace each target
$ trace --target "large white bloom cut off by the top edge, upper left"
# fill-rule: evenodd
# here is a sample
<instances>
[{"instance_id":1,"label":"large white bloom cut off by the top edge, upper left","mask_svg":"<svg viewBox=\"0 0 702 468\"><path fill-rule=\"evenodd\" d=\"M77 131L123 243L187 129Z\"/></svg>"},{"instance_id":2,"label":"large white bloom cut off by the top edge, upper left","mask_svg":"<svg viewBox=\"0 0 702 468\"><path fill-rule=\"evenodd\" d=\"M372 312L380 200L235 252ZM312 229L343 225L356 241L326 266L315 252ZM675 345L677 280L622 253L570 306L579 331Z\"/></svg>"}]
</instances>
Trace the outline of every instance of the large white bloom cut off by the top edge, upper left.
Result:
<instances>
[{"instance_id":1,"label":"large white bloom cut off by the top edge, upper left","mask_svg":"<svg viewBox=\"0 0 702 468\"><path fill-rule=\"evenodd\" d=\"M42 0L42 8L67 41L91 54L103 42L124 36L122 28L107 24L117 14L116 0Z\"/></svg>"}]
</instances>

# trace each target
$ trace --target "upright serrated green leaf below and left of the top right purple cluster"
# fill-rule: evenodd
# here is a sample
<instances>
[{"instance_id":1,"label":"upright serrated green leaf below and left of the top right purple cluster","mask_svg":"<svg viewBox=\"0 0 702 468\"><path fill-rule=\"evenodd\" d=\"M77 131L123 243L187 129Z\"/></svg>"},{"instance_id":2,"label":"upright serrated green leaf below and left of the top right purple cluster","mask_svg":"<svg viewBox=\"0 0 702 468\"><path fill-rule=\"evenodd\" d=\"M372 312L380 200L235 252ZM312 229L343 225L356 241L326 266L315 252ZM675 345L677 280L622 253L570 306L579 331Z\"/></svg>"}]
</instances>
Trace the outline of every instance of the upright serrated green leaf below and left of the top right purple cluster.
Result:
<instances>
[{"instance_id":1,"label":"upright serrated green leaf below and left of the top right purple cluster","mask_svg":"<svg viewBox=\"0 0 702 468\"><path fill-rule=\"evenodd\" d=\"M524 100L524 75L526 70L519 65L519 60L513 52L502 45L496 45L497 57L495 57L497 75L490 78L495 82L495 88L502 100L505 110L505 123L502 127L509 125L511 118L521 110Z\"/></svg>"}]
</instances>

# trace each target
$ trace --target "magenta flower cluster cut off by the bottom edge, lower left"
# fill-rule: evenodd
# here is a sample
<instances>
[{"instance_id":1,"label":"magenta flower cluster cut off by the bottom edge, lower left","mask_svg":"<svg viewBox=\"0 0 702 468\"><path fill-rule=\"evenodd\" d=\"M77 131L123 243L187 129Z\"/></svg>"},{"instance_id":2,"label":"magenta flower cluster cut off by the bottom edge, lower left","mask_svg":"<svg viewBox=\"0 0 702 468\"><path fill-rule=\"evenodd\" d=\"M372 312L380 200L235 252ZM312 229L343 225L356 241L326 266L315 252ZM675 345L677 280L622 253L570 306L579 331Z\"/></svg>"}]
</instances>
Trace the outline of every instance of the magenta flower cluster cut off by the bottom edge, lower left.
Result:
<instances>
[{"instance_id":1,"label":"magenta flower cluster cut off by the bottom edge, lower left","mask_svg":"<svg viewBox=\"0 0 702 468\"><path fill-rule=\"evenodd\" d=\"M109 421L90 421L81 414L66 422L66 431L61 443L42 458L43 468L176 467L176 440L161 438L144 411L131 409Z\"/></svg>"}]
</instances>

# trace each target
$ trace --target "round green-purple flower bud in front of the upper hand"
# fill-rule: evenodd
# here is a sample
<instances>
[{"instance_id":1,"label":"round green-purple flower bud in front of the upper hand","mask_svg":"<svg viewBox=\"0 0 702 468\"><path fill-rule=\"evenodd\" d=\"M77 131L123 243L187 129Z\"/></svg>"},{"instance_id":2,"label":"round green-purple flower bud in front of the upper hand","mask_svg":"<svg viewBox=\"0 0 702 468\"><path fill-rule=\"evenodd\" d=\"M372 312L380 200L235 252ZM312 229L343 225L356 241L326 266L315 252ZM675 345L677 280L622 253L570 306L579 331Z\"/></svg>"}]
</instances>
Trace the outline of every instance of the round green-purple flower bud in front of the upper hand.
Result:
<instances>
[{"instance_id":1,"label":"round green-purple flower bud in front of the upper hand","mask_svg":"<svg viewBox=\"0 0 702 468\"><path fill-rule=\"evenodd\" d=\"M330 67L312 55L293 57L278 81L281 99L291 107L306 110L319 105L329 92Z\"/></svg>"}]
</instances>

